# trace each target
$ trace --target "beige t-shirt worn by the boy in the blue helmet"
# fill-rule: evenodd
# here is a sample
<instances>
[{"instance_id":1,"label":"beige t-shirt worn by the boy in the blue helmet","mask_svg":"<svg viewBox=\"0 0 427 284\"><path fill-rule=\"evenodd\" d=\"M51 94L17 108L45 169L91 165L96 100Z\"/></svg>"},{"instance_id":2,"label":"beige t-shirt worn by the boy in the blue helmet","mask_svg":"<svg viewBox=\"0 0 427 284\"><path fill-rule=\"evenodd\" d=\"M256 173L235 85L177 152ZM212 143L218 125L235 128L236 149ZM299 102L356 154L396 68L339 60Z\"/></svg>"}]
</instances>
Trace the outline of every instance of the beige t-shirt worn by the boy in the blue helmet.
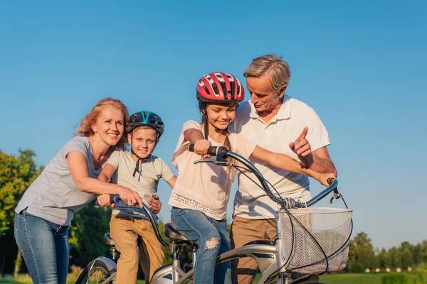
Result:
<instances>
[{"instance_id":1,"label":"beige t-shirt worn by the boy in the blue helmet","mask_svg":"<svg viewBox=\"0 0 427 284\"><path fill-rule=\"evenodd\" d=\"M161 178L167 181L174 176L169 165L164 163L162 158L154 155L151 155L146 163L140 164L139 171L137 171L135 177L133 172L136 162L132 159L130 152L115 151L105 164L110 164L116 169L112 176L112 182L135 190L145 204L148 204L148 200L152 195L157 194L157 185ZM117 208L120 207L119 205L124 206L122 203L124 204L124 202L120 202L114 207L112 214L119 213ZM137 207L132 207L132 209L135 208Z\"/></svg>"}]
</instances>

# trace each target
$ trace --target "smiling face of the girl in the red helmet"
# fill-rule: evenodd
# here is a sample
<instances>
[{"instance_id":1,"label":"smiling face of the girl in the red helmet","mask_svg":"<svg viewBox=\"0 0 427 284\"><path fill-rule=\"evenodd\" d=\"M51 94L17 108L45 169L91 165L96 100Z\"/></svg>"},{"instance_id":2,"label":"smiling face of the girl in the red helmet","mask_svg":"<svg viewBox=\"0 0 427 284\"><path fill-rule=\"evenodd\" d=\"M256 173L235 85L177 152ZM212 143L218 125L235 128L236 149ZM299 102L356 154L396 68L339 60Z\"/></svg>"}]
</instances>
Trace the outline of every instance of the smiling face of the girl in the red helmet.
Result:
<instances>
[{"instance_id":1,"label":"smiling face of the girl in the red helmet","mask_svg":"<svg viewBox=\"0 0 427 284\"><path fill-rule=\"evenodd\" d=\"M206 112L209 121L216 129L227 129L236 118L237 104L208 104Z\"/></svg>"}]
</instances>

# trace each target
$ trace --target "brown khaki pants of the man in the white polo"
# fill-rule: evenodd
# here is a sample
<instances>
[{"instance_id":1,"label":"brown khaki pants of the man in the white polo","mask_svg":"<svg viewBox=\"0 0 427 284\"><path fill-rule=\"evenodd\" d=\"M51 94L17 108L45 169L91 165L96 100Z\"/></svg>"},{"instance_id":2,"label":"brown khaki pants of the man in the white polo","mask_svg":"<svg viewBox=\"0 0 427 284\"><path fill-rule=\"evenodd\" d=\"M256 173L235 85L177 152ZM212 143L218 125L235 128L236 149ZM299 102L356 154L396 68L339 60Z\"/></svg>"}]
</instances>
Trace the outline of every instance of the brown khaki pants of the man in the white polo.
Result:
<instances>
[{"instance_id":1,"label":"brown khaki pants of the man in the white polo","mask_svg":"<svg viewBox=\"0 0 427 284\"><path fill-rule=\"evenodd\" d=\"M231 225L231 249L239 248L250 241L271 239L276 235L275 219L245 219L234 217ZM251 257L231 261L233 284L252 283L258 271L256 261Z\"/></svg>"}]
</instances>

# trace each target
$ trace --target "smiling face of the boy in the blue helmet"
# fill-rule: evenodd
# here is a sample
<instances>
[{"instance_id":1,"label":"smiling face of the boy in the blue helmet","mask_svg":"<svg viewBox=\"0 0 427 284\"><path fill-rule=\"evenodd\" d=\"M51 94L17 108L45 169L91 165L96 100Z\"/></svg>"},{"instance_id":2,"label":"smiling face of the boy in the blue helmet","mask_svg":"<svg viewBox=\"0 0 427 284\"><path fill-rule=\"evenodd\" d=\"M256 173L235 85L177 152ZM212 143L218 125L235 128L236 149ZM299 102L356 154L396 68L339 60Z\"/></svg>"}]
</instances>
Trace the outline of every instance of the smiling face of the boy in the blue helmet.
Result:
<instances>
[{"instance_id":1,"label":"smiling face of the boy in the blue helmet","mask_svg":"<svg viewBox=\"0 0 427 284\"><path fill-rule=\"evenodd\" d=\"M147 158L156 146L157 132L148 126L140 126L127 134L127 140L132 144L132 150L139 158ZM158 139L157 139L158 141Z\"/></svg>"}]
</instances>

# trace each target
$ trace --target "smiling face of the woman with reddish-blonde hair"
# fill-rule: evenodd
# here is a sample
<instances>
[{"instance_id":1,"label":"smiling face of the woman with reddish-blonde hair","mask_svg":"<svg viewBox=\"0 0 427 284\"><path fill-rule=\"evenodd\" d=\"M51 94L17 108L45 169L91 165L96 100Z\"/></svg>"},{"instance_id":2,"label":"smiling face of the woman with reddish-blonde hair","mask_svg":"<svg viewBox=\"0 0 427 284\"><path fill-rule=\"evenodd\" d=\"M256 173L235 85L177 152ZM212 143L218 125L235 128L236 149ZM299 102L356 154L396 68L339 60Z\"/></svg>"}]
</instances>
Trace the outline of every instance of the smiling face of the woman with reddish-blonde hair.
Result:
<instances>
[{"instance_id":1,"label":"smiling face of the woman with reddish-blonde hair","mask_svg":"<svg viewBox=\"0 0 427 284\"><path fill-rule=\"evenodd\" d=\"M92 130L95 132L95 136L99 136L105 144L115 146L125 131L124 119L125 116L121 109L103 107L95 124L92 125Z\"/></svg>"}]
</instances>

